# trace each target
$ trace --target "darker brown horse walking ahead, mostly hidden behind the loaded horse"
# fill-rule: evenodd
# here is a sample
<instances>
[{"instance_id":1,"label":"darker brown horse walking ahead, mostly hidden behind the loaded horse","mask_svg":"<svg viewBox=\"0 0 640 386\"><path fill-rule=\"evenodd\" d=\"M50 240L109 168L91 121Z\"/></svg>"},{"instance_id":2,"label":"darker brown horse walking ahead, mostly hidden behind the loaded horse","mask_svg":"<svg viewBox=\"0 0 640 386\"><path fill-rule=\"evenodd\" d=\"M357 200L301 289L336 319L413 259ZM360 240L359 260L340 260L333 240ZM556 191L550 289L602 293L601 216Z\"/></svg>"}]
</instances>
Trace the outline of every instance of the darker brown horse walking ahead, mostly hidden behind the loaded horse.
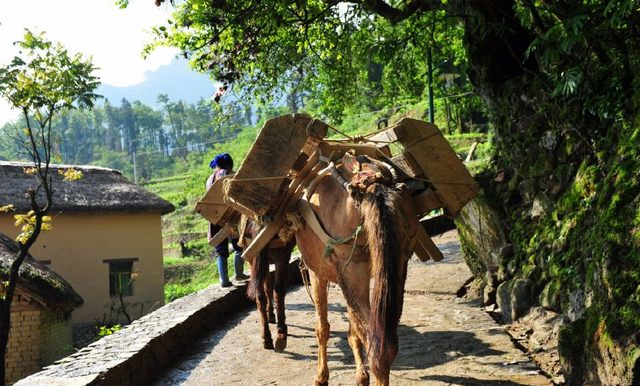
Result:
<instances>
[{"instance_id":1,"label":"darker brown horse walking ahead, mostly hidden behind the loaded horse","mask_svg":"<svg viewBox=\"0 0 640 386\"><path fill-rule=\"evenodd\" d=\"M247 220L244 235L254 238L259 227L251 220ZM291 251L295 246L295 240L292 238L289 242L275 238L264 248L258 256L251 262L251 280L247 287L247 295L256 301L256 306L260 312L262 321L262 340L265 349L274 349L273 339L269 323L277 322L277 336L275 343L276 351L283 351L287 347L287 325L284 315L284 298L287 290L289 278L289 260L291 259ZM275 275L269 272L269 264L275 264ZM274 281L275 283L272 283ZM276 311L274 313L274 297Z\"/></svg>"}]
</instances>

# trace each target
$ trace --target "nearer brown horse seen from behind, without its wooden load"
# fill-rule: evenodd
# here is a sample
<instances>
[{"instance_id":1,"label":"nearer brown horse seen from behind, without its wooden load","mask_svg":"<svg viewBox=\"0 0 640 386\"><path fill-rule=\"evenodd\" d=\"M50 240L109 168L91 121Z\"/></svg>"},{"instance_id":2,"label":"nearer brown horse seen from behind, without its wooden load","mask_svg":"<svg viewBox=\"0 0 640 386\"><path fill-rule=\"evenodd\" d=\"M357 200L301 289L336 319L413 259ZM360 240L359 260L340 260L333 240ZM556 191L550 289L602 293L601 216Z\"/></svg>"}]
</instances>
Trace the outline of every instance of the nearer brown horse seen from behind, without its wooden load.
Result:
<instances>
[{"instance_id":1,"label":"nearer brown horse seen from behind, without its wooden load","mask_svg":"<svg viewBox=\"0 0 640 386\"><path fill-rule=\"evenodd\" d=\"M362 178L360 167L349 170L341 165L332 171L334 177L321 176L311 184L301 201L303 205L308 202L335 241L331 245L323 242L309 221L296 232L304 263L311 271L316 305L317 386L327 385L329 379L328 282L338 283L347 301L348 340L359 386L369 385L367 362L375 385L388 385L398 351L397 328L417 222L410 192L395 183L389 167L368 162L376 173Z\"/></svg>"}]
</instances>

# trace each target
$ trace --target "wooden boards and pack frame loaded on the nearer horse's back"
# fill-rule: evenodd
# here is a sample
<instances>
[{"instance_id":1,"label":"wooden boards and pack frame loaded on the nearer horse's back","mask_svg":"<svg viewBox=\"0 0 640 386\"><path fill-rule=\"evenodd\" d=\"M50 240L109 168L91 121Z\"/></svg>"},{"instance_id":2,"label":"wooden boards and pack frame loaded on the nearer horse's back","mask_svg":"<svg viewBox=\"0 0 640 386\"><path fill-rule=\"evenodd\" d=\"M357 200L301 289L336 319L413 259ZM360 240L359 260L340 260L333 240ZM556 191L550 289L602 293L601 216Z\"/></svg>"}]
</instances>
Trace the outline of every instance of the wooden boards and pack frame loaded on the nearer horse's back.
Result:
<instances>
[{"instance_id":1,"label":"wooden boards and pack frame loaded on the nearer horse's back","mask_svg":"<svg viewBox=\"0 0 640 386\"><path fill-rule=\"evenodd\" d=\"M268 120L238 171L217 180L196 204L204 218L223 226L211 244L229 235L228 220L237 213L264 225L245 248L243 256L249 261L285 226L288 213L298 213L321 240L326 238L301 198L323 168L342 162L345 155L367 156L401 170L419 215L442 208L454 218L478 193L473 177L433 124L404 118L382 131L340 140L327 139L328 130L327 124L306 114ZM424 227L417 228L416 255L442 259Z\"/></svg>"}]
</instances>

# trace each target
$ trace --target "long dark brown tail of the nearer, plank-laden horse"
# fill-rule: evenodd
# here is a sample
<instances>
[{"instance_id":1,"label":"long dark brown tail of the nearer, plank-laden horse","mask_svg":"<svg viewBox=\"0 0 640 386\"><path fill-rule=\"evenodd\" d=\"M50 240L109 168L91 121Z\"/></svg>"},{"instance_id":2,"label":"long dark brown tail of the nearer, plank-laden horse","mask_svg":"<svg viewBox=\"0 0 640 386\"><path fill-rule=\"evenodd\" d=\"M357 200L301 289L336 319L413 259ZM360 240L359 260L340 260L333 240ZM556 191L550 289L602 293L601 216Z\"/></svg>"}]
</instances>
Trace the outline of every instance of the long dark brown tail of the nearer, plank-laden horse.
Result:
<instances>
[{"instance_id":1,"label":"long dark brown tail of the nearer, plank-laden horse","mask_svg":"<svg viewBox=\"0 0 640 386\"><path fill-rule=\"evenodd\" d=\"M367 234L374 288L371 294L368 356L374 374L384 372L381 362L390 366L398 352L398 323L402 314L407 242L401 210L401 195L382 184L367 189L361 205Z\"/></svg>"}]
</instances>

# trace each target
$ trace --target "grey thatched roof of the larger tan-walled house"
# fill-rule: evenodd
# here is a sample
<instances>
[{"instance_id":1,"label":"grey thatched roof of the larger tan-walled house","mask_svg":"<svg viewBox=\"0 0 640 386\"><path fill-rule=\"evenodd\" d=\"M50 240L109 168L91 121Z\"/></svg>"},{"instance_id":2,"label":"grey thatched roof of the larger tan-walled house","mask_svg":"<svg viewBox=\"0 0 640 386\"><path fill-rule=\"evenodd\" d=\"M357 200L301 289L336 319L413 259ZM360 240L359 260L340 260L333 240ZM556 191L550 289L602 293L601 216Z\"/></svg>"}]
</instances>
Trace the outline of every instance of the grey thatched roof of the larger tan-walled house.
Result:
<instances>
[{"instance_id":1,"label":"grey thatched roof of the larger tan-walled house","mask_svg":"<svg viewBox=\"0 0 640 386\"><path fill-rule=\"evenodd\" d=\"M25 193L38 186L34 175L24 172L29 163L0 161L0 206L13 204L17 211L30 210ZM83 178L64 182L58 170L70 167ZM168 201L126 179L120 172L98 166L51 165L53 207L60 212L172 212ZM44 201L44 200L43 200Z\"/></svg>"}]
</instances>

